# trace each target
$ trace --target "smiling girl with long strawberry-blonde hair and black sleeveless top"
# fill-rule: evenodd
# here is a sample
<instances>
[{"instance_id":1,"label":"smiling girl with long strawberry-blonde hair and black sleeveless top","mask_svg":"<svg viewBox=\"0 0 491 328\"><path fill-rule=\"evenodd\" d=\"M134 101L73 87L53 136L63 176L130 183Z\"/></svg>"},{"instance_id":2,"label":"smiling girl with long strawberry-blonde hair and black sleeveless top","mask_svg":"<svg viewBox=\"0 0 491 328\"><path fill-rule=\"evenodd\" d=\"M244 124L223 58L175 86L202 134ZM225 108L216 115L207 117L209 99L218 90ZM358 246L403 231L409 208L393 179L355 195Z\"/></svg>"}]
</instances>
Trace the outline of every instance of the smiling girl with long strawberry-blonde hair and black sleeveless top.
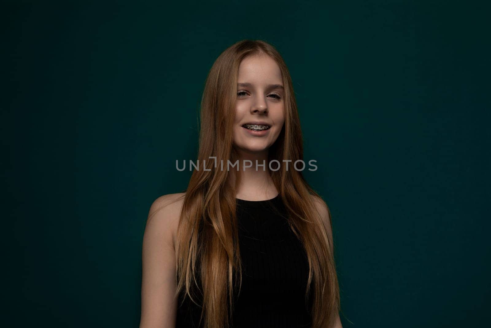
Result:
<instances>
[{"instance_id":1,"label":"smiling girl with long strawberry-blonde hair and black sleeveless top","mask_svg":"<svg viewBox=\"0 0 491 328\"><path fill-rule=\"evenodd\" d=\"M186 192L150 208L140 328L341 327L330 213L299 160L285 62L232 45L206 80Z\"/></svg>"}]
</instances>

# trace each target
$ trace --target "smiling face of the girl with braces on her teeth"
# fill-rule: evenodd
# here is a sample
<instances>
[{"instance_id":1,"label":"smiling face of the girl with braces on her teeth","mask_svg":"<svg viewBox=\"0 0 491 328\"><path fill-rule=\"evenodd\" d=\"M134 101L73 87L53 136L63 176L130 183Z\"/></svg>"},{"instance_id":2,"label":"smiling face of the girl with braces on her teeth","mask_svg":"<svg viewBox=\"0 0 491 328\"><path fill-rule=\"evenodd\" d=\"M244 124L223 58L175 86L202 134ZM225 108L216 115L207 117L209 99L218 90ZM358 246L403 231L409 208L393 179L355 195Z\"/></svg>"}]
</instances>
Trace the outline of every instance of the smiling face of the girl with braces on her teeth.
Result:
<instances>
[{"instance_id":1,"label":"smiling face of the girl with braces on her teeth","mask_svg":"<svg viewBox=\"0 0 491 328\"><path fill-rule=\"evenodd\" d=\"M233 142L246 152L269 149L285 122L283 81L278 64L266 54L239 65Z\"/></svg>"}]
</instances>

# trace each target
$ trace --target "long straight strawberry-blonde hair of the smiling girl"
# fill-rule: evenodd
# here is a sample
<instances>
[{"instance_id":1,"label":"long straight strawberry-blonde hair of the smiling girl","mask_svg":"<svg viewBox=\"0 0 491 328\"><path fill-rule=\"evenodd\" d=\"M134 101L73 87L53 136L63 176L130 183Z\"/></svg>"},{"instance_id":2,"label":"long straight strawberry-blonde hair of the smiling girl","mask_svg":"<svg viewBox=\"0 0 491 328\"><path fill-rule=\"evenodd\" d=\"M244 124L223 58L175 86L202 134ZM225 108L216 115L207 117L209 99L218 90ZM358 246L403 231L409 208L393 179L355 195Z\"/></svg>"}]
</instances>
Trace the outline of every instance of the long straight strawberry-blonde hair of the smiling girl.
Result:
<instances>
[{"instance_id":1,"label":"long straight strawberry-blonde hair of the smiling girl","mask_svg":"<svg viewBox=\"0 0 491 328\"><path fill-rule=\"evenodd\" d=\"M206 79L200 113L197 158L200 167L191 175L176 236L175 297L185 290L185 295L202 306L205 328L229 327L234 290L240 289L242 282L235 199L240 177L237 171L219 167L221 161L235 163L238 159L232 132L239 64L247 56L258 53L276 61L284 87L285 122L269 149L269 161L303 160L297 103L284 60L264 41L243 40L230 46L215 61ZM205 163L207 170L204 170ZM326 203L307 184L300 171L286 170L285 165L281 165L271 176L288 211L290 228L300 239L308 259L305 298L309 296L310 285L314 284L313 327L330 328L338 315L340 302L332 240L326 221L317 210L316 200ZM327 212L330 217L328 208Z\"/></svg>"}]
</instances>

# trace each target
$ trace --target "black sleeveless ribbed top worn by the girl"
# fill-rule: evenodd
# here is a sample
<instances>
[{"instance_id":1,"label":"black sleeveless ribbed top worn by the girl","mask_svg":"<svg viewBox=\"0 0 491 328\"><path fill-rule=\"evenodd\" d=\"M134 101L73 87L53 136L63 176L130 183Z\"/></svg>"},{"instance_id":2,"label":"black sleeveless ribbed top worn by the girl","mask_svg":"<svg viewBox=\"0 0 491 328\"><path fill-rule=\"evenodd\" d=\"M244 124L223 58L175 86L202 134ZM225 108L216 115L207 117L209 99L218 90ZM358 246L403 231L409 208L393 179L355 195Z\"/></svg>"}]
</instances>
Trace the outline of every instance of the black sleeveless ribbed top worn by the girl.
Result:
<instances>
[{"instance_id":1,"label":"black sleeveless ribbed top worn by the girl","mask_svg":"<svg viewBox=\"0 0 491 328\"><path fill-rule=\"evenodd\" d=\"M313 284L305 302L308 261L280 196L236 203L243 269L231 327L311 327ZM199 324L201 307L184 293L178 299L176 328L204 327Z\"/></svg>"}]
</instances>

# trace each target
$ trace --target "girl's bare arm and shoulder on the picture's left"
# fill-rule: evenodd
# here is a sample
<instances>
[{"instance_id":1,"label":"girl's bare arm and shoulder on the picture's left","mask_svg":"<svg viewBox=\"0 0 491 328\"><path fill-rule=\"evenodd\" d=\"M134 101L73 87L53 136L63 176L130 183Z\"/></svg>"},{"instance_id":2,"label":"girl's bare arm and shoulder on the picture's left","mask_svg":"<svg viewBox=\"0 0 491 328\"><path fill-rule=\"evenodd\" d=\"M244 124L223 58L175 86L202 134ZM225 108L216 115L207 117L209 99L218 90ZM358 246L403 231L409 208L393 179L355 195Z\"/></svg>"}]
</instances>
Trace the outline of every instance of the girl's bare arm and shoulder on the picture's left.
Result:
<instances>
[{"instance_id":1,"label":"girl's bare arm and shoulder on the picture's left","mask_svg":"<svg viewBox=\"0 0 491 328\"><path fill-rule=\"evenodd\" d=\"M142 245L140 328L175 327L177 302L174 236L182 194L159 197L150 207Z\"/></svg>"}]
</instances>

